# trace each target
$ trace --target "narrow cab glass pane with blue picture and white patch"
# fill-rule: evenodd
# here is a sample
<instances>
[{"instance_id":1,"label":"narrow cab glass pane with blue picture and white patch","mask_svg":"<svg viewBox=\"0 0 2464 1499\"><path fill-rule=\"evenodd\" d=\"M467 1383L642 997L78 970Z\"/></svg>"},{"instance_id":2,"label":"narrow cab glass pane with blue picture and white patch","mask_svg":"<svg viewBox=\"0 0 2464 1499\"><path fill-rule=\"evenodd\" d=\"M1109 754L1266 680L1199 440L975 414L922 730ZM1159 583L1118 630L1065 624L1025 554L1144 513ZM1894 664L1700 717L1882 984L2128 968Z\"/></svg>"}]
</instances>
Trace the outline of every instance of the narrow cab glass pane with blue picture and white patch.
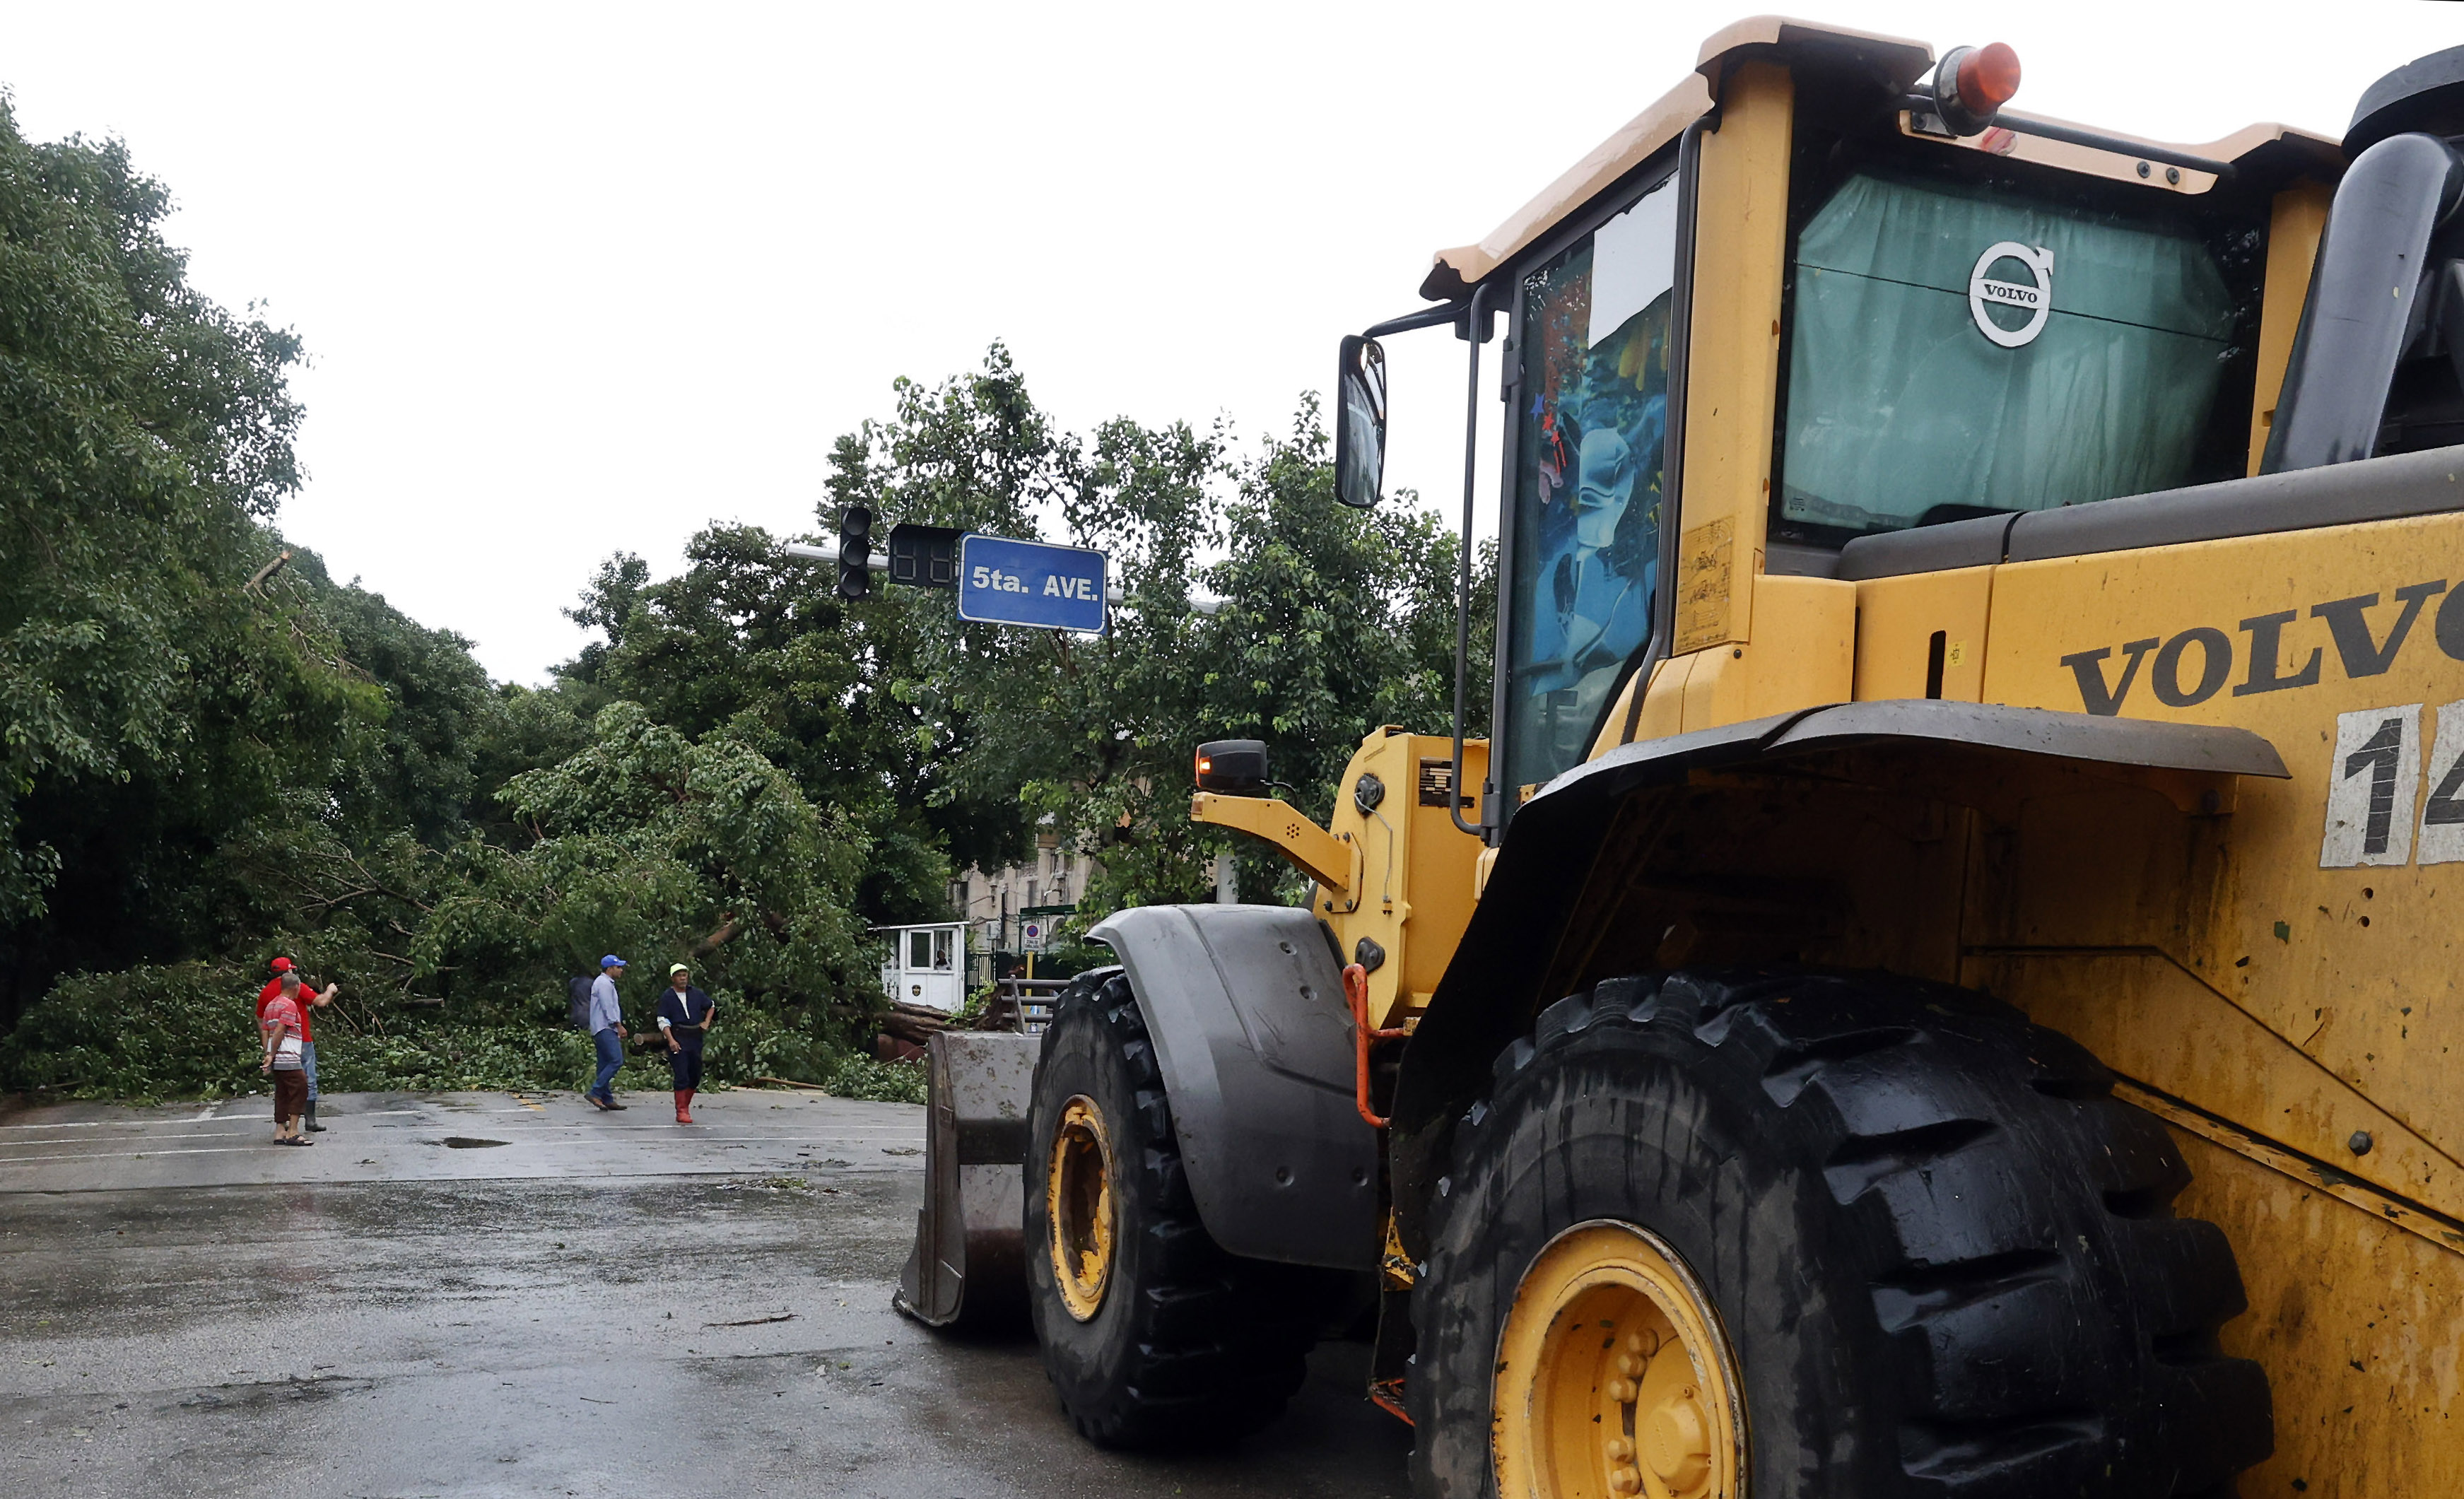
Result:
<instances>
[{"instance_id":1,"label":"narrow cab glass pane with blue picture and white patch","mask_svg":"<svg viewBox=\"0 0 2464 1499\"><path fill-rule=\"evenodd\" d=\"M1676 197L1661 182L1520 281L1508 799L1582 762L1651 639Z\"/></svg>"}]
</instances>

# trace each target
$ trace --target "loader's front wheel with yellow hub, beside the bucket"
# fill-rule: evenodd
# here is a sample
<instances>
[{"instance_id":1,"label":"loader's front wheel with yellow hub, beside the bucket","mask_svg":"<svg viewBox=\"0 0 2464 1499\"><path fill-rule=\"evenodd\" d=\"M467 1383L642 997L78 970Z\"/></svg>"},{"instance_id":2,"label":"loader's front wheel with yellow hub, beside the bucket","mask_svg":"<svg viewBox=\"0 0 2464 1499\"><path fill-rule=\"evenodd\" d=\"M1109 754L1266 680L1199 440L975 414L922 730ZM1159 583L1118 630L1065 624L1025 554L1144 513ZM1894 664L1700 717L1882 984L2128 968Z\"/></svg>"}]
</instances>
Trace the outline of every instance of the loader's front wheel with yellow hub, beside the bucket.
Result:
<instances>
[{"instance_id":1,"label":"loader's front wheel with yellow hub, beside the bucket","mask_svg":"<svg viewBox=\"0 0 2464 1499\"><path fill-rule=\"evenodd\" d=\"M1079 1435L1202 1447L1284 1410L1331 1277L1227 1255L1207 1235L1121 969L1084 974L1052 1011L1025 1178L1027 1304Z\"/></svg>"}]
</instances>

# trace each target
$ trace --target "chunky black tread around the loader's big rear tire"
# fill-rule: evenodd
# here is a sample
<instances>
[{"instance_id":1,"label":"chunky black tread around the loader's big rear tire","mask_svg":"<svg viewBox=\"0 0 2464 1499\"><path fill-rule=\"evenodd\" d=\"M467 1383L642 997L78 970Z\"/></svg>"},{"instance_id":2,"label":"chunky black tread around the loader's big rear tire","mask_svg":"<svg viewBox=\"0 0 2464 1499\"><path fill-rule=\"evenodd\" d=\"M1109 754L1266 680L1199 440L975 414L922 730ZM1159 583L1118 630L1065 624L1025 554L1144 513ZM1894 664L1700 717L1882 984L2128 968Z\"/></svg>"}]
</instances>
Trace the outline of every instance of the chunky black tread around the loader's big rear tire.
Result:
<instances>
[{"instance_id":1,"label":"chunky black tread around the loader's big rear tire","mask_svg":"<svg viewBox=\"0 0 2464 1499\"><path fill-rule=\"evenodd\" d=\"M1451 1191L1429 1203L1422 1366L1469 1336L1439 1287L1493 1275L1451 1255L1481 1243L1481 1223L1456 1218L1501 1201L1515 1102L1540 1097L1555 1065L1619 1050L1757 1090L1838 1213L1865 1225L1865 1326L1892 1368L1860 1378L1902 1393L1885 1460L1897 1487L1873 1492L2188 1497L2230 1492L2272 1450L2264 1376L2218 1349L2245 1309L2232 1248L2173 1215L2190 1174L2163 1124L2119 1102L2070 1038L1979 994L1887 976L1643 974L1547 1006L1498 1053L1491 1097L1456 1127ZM1414 1487L1486 1492L1478 1474L1434 1469L1437 1423L1461 1420L1437 1383L1409 1391Z\"/></svg>"}]
</instances>

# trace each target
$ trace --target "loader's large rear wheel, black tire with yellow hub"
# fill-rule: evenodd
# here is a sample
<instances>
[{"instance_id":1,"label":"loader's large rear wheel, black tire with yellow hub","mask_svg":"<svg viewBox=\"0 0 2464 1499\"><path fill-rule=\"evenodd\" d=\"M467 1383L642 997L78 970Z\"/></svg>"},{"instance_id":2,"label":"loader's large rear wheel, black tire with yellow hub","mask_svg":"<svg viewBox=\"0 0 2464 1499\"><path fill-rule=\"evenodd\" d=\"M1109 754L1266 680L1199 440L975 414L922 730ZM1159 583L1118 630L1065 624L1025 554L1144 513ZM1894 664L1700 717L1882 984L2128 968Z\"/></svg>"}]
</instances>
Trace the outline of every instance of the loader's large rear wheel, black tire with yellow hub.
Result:
<instances>
[{"instance_id":1,"label":"loader's large rear wheel, black tire with yellow hub","mask_svg":"<svg viewBox=\"0 0 2464 1499\"><path fill-rule=\"evenodd\" d=\"M2242 1282L2223 1230L2173 1215L2188 1181L2112 1072L1976 994L1604 981L1456 1124L1412 1302L1414 1492L1501 1494L1503 1460L1506 1499L2230 1494L2269 1395L2218 1351Z\"/></svg>"}]
</instances>

